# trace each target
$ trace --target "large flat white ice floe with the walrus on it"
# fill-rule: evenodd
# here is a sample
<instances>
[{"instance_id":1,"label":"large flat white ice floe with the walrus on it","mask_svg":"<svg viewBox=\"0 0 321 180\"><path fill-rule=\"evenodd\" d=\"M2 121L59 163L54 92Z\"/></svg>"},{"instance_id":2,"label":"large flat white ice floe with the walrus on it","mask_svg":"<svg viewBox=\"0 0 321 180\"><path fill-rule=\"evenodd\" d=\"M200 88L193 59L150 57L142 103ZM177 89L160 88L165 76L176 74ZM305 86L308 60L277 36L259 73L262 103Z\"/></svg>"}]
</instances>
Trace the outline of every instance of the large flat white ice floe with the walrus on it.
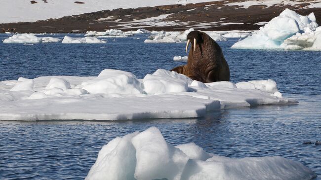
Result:
<instances>
[{"instance_id":1,"label":"large flat white ice floe with the walrus on it","mask_svg":"<svg viewBox=\"0 0 321 180\"><path fill-rule=\"evenodd\" d=\"M220 108L293 103L273 80L202 83L162 69L143 79L104 70L93 77L0 82L0 120L186 118Z\"/></svg>"}]
</instances>

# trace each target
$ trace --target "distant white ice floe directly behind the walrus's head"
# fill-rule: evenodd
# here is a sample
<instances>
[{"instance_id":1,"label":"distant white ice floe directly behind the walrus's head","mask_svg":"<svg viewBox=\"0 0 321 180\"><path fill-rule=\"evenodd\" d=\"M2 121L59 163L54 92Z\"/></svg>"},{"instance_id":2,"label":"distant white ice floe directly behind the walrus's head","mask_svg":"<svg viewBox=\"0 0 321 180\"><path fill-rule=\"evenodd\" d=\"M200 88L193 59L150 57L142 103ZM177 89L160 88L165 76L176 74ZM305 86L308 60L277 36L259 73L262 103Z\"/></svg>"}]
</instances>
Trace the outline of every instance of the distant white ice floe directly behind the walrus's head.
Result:
<instances>
[{"instance_id":1,"label":"distant white ice floe directly behind the walrus's head","mask_svg":"<svg viewBox=\"0 0 321 180\"><path fill-rule=\"evenodd\" d=\"M187 35L194 31L193 28L186 30L184 32L164 32L161 31L158 34L149 36L150 39L146 39L145 43L182 43L185 42L187 39ZM221 36L219 33L216 32L205 32L210 37L212 37L216 41L225 41L226 38Z\"/></svg>"}]
</instances>

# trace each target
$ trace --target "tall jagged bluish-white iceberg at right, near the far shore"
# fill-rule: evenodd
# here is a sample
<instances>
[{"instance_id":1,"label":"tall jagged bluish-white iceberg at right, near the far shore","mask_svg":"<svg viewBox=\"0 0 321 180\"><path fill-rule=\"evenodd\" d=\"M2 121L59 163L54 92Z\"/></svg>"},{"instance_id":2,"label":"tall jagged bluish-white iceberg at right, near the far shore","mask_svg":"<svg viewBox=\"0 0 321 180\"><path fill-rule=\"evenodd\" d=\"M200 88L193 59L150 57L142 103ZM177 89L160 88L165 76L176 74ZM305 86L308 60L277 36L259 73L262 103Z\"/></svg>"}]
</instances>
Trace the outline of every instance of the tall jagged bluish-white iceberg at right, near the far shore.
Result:
<instances>
[{"instance_id":1,"label":"tall jagged bluish-white iceberg at right, near the far shore","mask_svg":"<svg viewBox=\"0 0 321 180\"><path fill-rule=\"evenodd\" d=\"M285 9L256 34L235 43L232 48L321 50L320 31L314 13L301 16Z\"/></svg>"}]
</instances>

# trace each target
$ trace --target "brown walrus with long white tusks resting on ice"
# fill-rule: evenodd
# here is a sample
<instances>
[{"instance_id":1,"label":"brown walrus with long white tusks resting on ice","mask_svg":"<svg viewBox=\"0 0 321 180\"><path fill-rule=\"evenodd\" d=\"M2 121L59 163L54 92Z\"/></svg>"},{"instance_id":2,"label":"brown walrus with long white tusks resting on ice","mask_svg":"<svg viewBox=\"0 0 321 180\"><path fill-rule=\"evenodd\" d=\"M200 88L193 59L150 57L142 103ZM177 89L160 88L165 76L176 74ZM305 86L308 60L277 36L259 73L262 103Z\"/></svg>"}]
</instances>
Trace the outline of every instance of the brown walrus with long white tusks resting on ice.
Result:
<instances>
[{"instance_id":1,"label":"brown walrus with long white tusks resting on ice","mask_svg":"<svg viewBox=\"0 0 321 180\"><path fill-rule=\"evenodd\" d=\"M186 50L192 43L188 54L187 65L170 71L178 72L203 83L230 81L230 69L221 47L207 34L192 31L187 35Z\"/></svg>"}]
</instances>

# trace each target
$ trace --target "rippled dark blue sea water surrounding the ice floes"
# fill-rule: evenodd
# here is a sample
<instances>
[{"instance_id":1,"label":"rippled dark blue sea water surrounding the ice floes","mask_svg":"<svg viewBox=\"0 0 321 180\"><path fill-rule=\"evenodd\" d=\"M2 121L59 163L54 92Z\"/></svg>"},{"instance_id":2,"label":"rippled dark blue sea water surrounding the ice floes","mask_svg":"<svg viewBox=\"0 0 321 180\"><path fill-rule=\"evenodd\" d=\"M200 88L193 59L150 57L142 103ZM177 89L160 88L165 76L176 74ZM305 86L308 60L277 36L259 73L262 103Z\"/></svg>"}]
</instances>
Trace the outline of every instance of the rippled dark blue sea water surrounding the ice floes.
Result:
<instances>
[{"instance_id":1,"label":"rippled dark blue sea water surrounding the ice floes","mask_svg":"<svg viewBox=\"0 0 321 180\"><path fill-rule=\"evenodd\" d=\"M54 35L63 38L64 35ZM83 35L69 35L83 36ZM44 75L96 76L118 69L143 78L185 64L185 44L143 43L148 35L106 38L105 44L0 42L0 81ZM0 39L8 35L0 35ZM139 39L136 39L139 37ZM100 148L117 136L158 127L169 144L194 142L227 157L282 156L321 177L321 52L240 50L218 42L231 81L273 79L297 105L209 112L205 117L128 121L0 121L0 179L84 179ZM310 141L313 144L303 144Z\"/></svg>"}]
</instances>

